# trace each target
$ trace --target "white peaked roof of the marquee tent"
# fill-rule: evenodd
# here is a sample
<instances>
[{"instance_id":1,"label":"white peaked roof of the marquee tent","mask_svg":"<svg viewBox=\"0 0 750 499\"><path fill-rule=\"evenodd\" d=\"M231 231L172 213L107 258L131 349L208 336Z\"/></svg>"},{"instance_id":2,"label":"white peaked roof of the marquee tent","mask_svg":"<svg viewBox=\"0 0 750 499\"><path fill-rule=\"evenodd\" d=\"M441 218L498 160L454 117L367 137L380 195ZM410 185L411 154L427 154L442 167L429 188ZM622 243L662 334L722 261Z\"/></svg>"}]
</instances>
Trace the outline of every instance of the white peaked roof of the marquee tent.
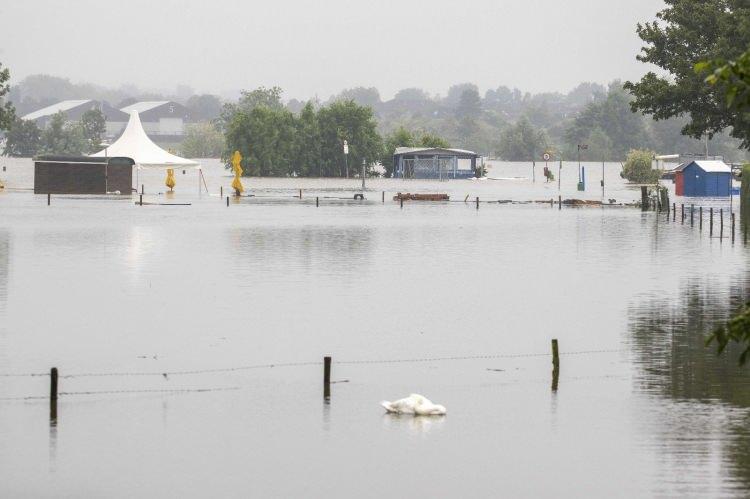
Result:
<instances>
[{"instance_id":1,"label":"white peaked roof of the marquee tent","mask_svg":"<svg viewBox=\"0 0 750 499\"><path fill-rule=\"evenodd\" d=\"M200 167L195 161L168 153L154 144L143 131L138 111L130 112L130 120L125 131L114 144L91 156L124 156L133 158L135 164L153 168L193 168Z\"/></svg>"}]
</instances>

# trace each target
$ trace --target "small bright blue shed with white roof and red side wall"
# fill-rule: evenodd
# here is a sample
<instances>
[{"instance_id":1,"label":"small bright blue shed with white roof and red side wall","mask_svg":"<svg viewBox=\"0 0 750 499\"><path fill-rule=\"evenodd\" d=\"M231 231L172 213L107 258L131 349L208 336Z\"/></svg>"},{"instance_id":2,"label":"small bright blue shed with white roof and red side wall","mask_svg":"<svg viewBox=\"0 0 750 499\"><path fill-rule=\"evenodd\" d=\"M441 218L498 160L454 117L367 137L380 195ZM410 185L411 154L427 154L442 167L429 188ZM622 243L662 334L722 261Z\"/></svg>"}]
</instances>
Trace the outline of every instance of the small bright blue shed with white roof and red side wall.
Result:
<instances>
[{"instance_id":1,"label":"small bright blue shed with white roof and red side wall","mask_svg":"<svg viewBox=\"0 0 750 499\"><path fill-rule=\"evenodd\" d=\"M728 197L732 169L723 161L695 160L675 169L675 194L687 197Z\"/></svg>"}]
</instances>

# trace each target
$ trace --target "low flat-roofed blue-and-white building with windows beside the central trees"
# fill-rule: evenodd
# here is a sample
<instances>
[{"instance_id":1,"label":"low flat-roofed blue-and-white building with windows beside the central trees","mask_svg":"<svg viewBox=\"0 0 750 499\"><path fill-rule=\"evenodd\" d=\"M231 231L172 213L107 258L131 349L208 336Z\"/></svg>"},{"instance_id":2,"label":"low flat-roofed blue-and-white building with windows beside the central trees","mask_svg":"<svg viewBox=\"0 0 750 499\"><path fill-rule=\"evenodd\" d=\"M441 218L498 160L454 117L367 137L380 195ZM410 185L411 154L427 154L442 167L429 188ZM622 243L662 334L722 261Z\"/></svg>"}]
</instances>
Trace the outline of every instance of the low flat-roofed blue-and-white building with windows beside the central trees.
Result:
<instances>
[{"instance_id":1,"label":"low flat-roofed blue-and-white building with windows beside the central trees","mask_svg":"<svg viewBox=\"0 0 750 499\"><path fill-rule=\"evenodd\" d=\"M463 149L397 147L393 154L393 178L472 178L479 155Z\"/></svg>"}]
</instances>

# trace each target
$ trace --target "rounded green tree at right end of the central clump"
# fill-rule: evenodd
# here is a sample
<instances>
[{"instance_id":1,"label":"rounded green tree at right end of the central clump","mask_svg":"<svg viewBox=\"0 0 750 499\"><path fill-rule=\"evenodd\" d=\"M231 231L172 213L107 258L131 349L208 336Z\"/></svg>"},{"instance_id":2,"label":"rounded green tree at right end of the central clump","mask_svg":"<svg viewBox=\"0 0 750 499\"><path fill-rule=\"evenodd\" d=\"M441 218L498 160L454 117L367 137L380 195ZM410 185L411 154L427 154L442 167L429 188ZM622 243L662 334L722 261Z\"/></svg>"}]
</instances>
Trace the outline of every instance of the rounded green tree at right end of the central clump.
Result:
<instances>
[{"instance_id":1,"label":"rounded green tree at right end of the central clump","mask_svg":"<svg viewBox=\"0 0 750 499\"><path fill-rule=\"evenodd\" d=\"M349 143L349 172L360 171L362 161L371 169L383 152L383 139L371 107L360 106L352 100L337 101L318 111L321 138L323 175L343 177L343 143Z\"/></svg>"}]
</instances>

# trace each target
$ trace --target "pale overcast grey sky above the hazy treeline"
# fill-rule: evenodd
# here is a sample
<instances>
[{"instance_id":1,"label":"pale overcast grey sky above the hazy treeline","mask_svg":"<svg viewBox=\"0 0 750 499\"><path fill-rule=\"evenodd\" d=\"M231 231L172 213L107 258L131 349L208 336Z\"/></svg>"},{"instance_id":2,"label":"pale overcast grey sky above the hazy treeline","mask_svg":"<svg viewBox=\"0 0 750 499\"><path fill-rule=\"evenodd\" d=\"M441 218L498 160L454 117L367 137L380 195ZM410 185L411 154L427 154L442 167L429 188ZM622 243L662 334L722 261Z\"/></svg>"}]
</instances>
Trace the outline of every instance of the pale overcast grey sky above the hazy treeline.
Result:
<instances>
[{"instance_id":1,"label":"pale overcast grey sky above the hazy treeline","mask_svg":"<svg viewBox=\"0 0 750 499\"><path fill-rule=\"evenodd\" d=\"M279 85L285 98L375 86L445 94L567 91L637 78L639 21L661 0L3 0L0 62L107 86L226 93Z\"/></svg>"}]
</instances>

